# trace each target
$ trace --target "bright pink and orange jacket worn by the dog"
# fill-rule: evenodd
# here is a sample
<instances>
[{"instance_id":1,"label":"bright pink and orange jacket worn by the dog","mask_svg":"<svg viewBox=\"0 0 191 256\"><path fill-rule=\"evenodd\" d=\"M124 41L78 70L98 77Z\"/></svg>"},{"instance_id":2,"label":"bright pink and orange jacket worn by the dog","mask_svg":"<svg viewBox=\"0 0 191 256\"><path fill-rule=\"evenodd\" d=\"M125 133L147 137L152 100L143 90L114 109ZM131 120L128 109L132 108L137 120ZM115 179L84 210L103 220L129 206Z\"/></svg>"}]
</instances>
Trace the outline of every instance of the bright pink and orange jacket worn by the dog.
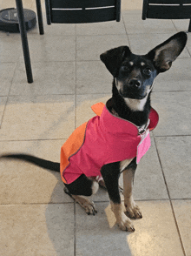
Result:
<instances>
[{"instance_id":1,"label":"bright pink and orange jacket worn by the dog","mask_svg":"<svg viewBox=\"0 0 191 256\"><path fill-rule=\"evenodd\" d=\"M136 125L115 117L102 103L93 105L92 109L97 116L78 127L62 146L60 171L64 183L72 183L82 174L100 176L102 165L135 158L139 144L142 151L139 159L148 151L149 132L146 143L141 142L142 135ZM148 131L151 131L158 123L154 109L149 119Z\"/></svg>"}]
</instances>

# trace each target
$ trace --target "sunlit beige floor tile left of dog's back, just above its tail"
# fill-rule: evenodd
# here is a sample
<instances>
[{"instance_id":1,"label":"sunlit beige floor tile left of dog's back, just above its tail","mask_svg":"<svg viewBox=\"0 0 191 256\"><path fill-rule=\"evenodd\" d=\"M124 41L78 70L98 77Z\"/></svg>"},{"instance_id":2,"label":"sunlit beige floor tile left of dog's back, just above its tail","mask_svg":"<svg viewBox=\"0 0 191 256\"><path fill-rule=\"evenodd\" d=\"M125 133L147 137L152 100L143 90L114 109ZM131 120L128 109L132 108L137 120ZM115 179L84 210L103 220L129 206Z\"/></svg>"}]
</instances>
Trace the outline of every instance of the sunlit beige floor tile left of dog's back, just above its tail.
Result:
<instances>
[{"instance_id":1,"label":"sunlit beige floor tile left of dog's back, just above its tail","mask_svg":"<svg viewBox=\"0 0 191 256\"><path fill-rule=\"evenodd\" d=\"M10 97L1 140L68 138L74 131L74 96Z\"/></svg>"}]
</instances>

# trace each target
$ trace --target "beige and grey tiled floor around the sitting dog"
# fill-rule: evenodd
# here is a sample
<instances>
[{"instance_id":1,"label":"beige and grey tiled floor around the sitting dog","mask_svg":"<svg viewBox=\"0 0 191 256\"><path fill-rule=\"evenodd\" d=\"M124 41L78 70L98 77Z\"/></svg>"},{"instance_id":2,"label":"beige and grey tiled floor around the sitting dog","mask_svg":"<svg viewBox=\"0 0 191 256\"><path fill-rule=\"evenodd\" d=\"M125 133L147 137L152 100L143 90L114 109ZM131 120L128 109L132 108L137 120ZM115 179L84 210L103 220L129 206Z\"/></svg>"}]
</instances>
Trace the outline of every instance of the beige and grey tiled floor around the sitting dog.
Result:
<instances>
[{"instance_id":1,"label":"beige and grey tiled floor around the sitting dog","mask_svg":"<svg viewBox=\"0 0 191 256\"><path fill-rule=\"evenodd\" d=\"M35 9L35 1L23 2ZM1 9L12 7L8 3ZM112 77L99 55L122 44L144 54L188 30L188 20L142 21L141 4L137 10L122 6L120 23L48 27L44 18L43 36L37 27L28 33L33 84L26 82L20 35L0 32L0 153L59 161L65 139L94 115L90 105L111 95ZM136 172L143 219L134 220L135 232L115 226L102 189L93 197L97 215L87 216L64 194L59 173L1 160L0 255L191 256L190 70L188 34L186 49L155 81L152 104L160 122Z\"/></svg>"}]
</instances>

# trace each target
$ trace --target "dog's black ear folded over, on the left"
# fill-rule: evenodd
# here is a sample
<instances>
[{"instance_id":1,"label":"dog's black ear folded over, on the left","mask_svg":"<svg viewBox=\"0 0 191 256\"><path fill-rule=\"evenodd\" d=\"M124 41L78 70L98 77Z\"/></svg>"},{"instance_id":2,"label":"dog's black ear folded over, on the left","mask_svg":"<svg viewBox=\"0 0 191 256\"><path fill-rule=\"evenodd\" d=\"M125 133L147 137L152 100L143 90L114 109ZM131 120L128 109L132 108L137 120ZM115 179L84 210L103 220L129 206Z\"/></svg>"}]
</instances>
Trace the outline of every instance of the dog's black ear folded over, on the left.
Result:
<instances>
[{"instance_id":1,"label":"dog's black ear folded over, on the left","mask_svg":"<svg viewBox=\"0 0 191 256\"><path fill-rule=\"evenodd\" d=\"M130 54L131 51L128 46L120 46L102 53L100 58L113 77L116 77L122 61Z\"/></svg>"}]
</instances>

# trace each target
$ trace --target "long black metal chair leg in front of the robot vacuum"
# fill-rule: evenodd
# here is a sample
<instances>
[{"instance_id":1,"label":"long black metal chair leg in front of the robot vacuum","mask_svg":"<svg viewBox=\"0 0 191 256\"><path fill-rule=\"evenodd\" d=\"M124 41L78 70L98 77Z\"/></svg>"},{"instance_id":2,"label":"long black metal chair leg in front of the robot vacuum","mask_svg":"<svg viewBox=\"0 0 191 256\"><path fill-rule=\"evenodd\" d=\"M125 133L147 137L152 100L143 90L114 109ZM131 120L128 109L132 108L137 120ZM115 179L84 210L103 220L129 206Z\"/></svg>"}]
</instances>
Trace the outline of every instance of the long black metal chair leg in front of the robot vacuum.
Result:
<instances>
[{"instance_id":1,"label":"long black metal chair leg in front of the robot vacuum","mask_svg":"<svg viewBox=\"0 0 191 256\"><path fill-rule=\"evenodd\" d=\"M30 50L29 50L29 44L27 40L27 32L24 24L22 0L16 0L16 10L18 14L19 29L20 29L21 39L23 44L23 57L24 57L25 69L27 73L27 80L28 80L28 83L33 83L32 69L30 64Z\"/></svg>"}]
</instances>

